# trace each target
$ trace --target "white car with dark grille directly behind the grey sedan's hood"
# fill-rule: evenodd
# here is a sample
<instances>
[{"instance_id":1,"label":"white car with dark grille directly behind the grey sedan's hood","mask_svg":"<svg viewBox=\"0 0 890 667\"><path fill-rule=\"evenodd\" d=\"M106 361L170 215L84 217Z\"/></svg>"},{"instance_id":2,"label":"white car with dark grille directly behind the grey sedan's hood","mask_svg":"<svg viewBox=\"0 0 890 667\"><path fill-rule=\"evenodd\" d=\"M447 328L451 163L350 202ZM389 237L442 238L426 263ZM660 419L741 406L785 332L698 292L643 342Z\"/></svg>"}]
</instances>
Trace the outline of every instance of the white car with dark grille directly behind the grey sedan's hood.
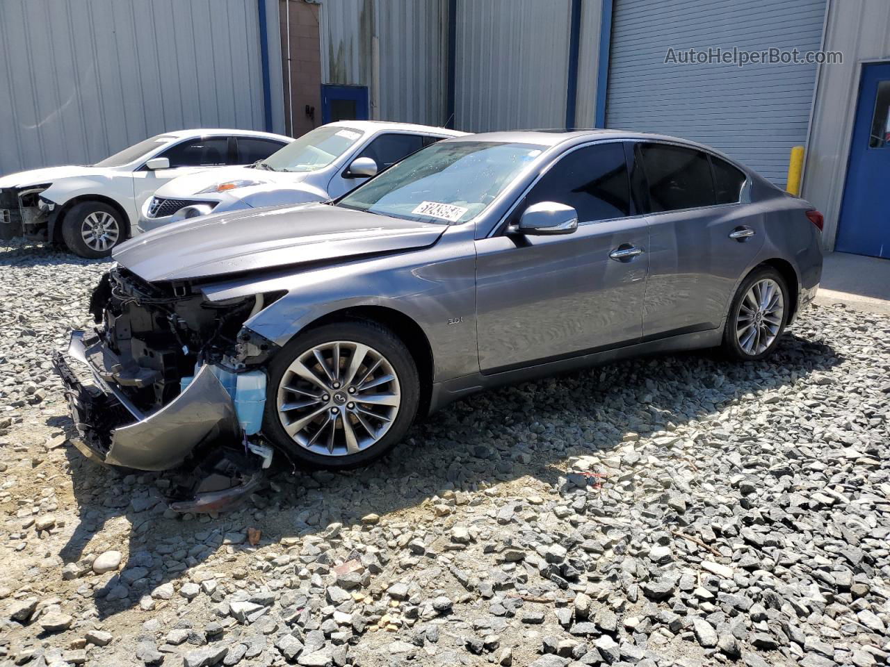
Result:
<instances>
[{"instance_id":1,"label":"white car with dark grille directly behind the grey sedan's hood","mask_svg":"<svg viewBox=\"0 0 890 667\"><path fill-rule=\"evenodd\" d=\"M370 120L321 125L255 165L193 173L166 183L142 205L137 231L211 212L340 197L401 158L464 134Z\"/></svg>"}]
</instances>

